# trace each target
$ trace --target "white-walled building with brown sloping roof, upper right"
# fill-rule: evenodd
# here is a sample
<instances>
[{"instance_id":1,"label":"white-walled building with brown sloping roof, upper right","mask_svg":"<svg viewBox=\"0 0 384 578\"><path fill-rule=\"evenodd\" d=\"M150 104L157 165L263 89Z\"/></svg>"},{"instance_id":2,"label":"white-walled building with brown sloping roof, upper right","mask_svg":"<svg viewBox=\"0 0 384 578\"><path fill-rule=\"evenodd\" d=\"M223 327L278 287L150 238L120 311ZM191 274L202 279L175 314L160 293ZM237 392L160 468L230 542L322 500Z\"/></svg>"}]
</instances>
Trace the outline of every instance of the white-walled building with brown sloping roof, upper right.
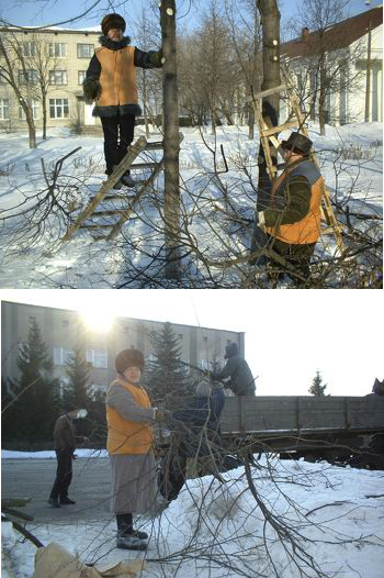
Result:
<instances>
[{"instance_id":1,"label":"white-walled building with brown sloping roof, upper right","mask_svg":"<svg viewBox=\"0 0 384 578\"><path fill-rule=\"evenodd\" d=\"M300 37L281 45L281 55L303 112L313 121L323 89L327 124L383 122L382 5L325 30L303 29ZM285 118L287 108L281 104Z\"/></svg>"}]
</instances>

